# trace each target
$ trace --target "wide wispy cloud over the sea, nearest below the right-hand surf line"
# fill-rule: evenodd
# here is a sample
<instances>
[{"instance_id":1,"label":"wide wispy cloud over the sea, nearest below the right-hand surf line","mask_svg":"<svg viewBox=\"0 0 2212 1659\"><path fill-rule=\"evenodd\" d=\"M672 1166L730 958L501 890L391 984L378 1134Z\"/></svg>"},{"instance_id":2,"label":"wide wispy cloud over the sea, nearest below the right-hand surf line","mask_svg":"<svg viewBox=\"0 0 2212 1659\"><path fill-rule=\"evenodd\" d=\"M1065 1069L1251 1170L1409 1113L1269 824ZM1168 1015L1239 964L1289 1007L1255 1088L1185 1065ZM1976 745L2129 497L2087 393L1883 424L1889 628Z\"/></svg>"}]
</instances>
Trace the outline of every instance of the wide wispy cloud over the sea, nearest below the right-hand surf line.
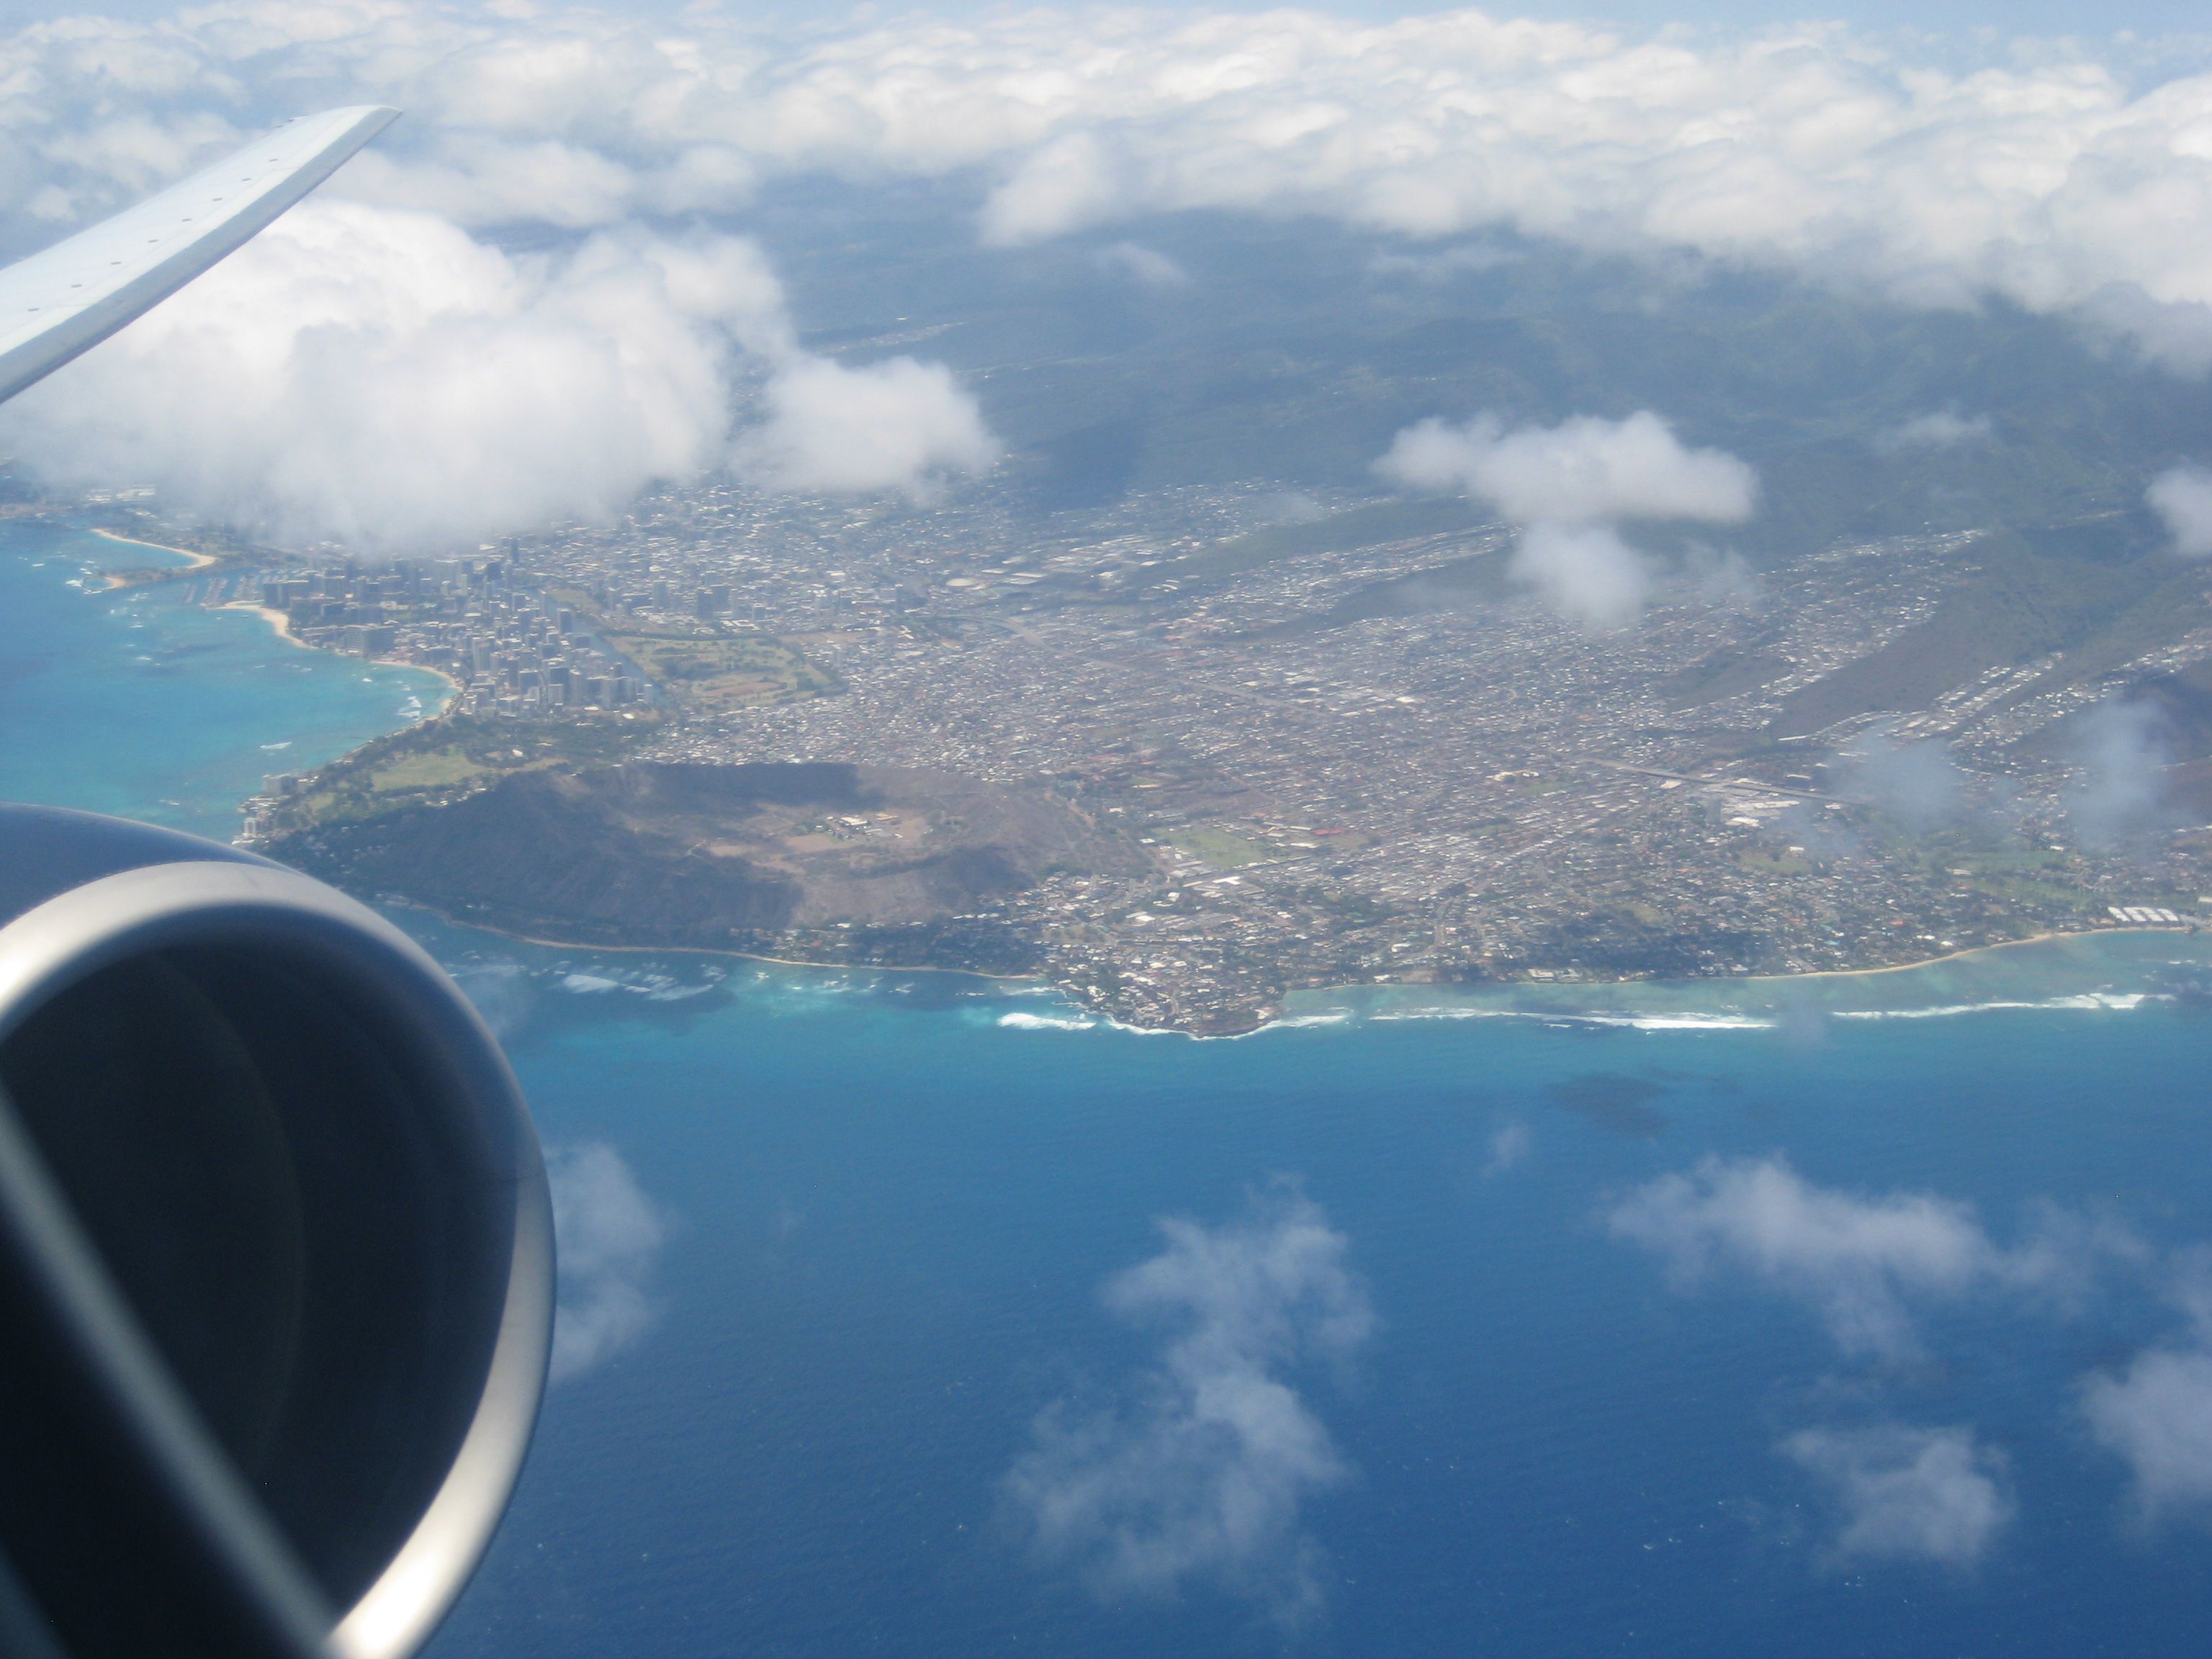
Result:
<instances>
[{"instance_id":1,"label":"wide wispy cloud over the sea, nearest below the right-hand surf line","mask_svg":"<svg viewBox=\"0 0 2212 1659\"><path fill-rule=\"evenodd\" d=\"M1916 1301L1984 1290L2068 1301L2099 1259L2139 1256L2128 1234L2062 1212L2002 1250L1955 1199L1820 1188L1778 1157L1708 1157L1661 1175L1615 1203L1606 1225L1663 1256L1677 1290L1717 1267L1752 1274L1816 1310L1847 1354L1882 1360L1918 1354Z\"/></svg>"}]
</instances>

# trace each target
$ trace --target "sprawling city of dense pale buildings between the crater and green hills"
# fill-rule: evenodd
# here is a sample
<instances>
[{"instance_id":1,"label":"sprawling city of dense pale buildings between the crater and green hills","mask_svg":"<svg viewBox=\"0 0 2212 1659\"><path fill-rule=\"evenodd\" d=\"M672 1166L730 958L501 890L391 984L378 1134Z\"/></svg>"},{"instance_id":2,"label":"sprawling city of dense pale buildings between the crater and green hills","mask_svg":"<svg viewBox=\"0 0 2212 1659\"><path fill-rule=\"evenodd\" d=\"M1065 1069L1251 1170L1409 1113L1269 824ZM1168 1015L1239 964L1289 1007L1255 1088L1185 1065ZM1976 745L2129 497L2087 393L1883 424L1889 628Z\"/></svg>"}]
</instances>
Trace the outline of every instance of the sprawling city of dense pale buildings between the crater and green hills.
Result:
<instances>
[{"instance_id":1,"label":"sprawling city of dense pale buildings between the crater and green hills","mask_svg":"<svg viewBox=\"0 0 2212 1659\"><path fill-rule=\"evenodd\" d=\"M978 920L1040 940L1053 978L1141 1024L1237 1029L1345 980L1869 967L2108 905L2185 918L2212 889L2203 836L2073 845L2066 768L2017 743L2020 666L1891 739L1971 761L1940 823L1854 770L1867 717L1776 741L1792 692L1971 580L1969 538L1763 580L1705 562L1641 626L1590 635L1513 588L1504 531L1473 515L1219 557L1279 513L1261 489L1040 522L987 491L918 511L708 484L476 560L270 575L263 599L312 644L453 675L465 708L657 699L657 759L1053 787L1152 874L1060 874ZM695 708L615 644L670 635L774 635L838 690ZM2081 692L2046 701L2057 719Z\"/></svg>"}]
</instances>

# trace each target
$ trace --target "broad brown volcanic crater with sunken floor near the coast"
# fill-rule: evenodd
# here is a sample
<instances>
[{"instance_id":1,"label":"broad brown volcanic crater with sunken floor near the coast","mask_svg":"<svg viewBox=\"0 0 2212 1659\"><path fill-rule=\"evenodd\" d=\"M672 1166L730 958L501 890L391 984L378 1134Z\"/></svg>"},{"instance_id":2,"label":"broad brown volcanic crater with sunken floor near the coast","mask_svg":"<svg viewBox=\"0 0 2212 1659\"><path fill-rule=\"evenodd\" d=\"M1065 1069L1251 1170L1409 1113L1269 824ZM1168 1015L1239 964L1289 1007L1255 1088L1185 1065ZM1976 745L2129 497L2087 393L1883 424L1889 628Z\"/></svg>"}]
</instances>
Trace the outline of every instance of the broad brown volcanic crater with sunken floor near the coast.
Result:
<instances>
[{"instance_id":1,"label":"broad brown volcanic crater with sunken floor near the coast","mask_svg":"<svg viewBox=\"0 0 2212 1659\"><path fill-rule=\"evenodd\" d=\"M761 949L841 922L929 938L1053 869L1148 867L1048 794L836 763L518 772L453 805L325 823L272 852L354 891L515 933L697 949Z\"/></svg>"}]
</instances>

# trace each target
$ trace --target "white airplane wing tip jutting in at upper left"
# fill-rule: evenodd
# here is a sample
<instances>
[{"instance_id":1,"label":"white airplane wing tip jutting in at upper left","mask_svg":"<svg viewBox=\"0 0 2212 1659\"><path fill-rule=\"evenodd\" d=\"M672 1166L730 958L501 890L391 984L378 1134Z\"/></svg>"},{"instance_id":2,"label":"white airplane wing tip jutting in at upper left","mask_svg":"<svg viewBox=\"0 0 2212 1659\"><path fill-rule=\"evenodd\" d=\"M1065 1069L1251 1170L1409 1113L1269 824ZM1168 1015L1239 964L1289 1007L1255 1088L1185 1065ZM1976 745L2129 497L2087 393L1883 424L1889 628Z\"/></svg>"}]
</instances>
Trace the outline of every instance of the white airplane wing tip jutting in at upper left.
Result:
<instances>
[{"instance_id":1,"label":"white airplane wing tip jutting in at upper left","mask_svg":"<svg viewBox=\"0 0 2212 1659\"><path fill-rule=\"evenodd\" d=\"M396 108L285 122L243 150L0 270L0 403L153 310L314 190Z\"/></svg>"}]
</instances>

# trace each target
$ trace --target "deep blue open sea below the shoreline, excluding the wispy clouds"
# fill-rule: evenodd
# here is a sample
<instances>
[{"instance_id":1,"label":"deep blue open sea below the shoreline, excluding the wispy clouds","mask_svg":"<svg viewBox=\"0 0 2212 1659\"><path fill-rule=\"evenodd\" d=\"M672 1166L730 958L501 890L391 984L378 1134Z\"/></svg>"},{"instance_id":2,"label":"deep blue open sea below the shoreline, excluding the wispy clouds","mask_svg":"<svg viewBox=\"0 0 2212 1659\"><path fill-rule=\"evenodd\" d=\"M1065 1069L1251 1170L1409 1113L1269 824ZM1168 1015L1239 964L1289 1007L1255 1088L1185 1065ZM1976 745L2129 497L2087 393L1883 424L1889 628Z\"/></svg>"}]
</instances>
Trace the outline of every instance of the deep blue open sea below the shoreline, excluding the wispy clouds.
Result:
<instances>
[{"instance_id":1,"label":"deep blue open sea below the shoreline, excluding the wispy clouds","mask_svg":"<svg viewBox=\"0 0 2212 1659\"><path fill-rule=\"evenodd\" d=\"M2194 1013L1197 1044L745 975L710 1006L571 995L551 953L513 960L538 964L502 1006L526 1009L546 1135L619 1148L675 1225L659 1321L555 1389L442 1655L1285 1646L1219 1575L1091 1595L1002 1495L1040 1409L1157 1363L1097 1296L1159 1250L1152 1219L1234 1221L1272 1175L1378 1316L1343 1376L1283 1369L1356 1471L1301 1506L1325 1608L1287 1646L2124 1655L2208 1626L2212 1540L2132 1526L2077 1402L2181 1325L2157 1270L2073 1314L1964 1296L1916 1314L1920 1356L1869 1363L1741 1274L1668 1290L1599 1221L1703 1155L1783 1152L1823 1186L1971 1199L2004 1243L2042 1201L2208 1239ZM1657 1088L1626 1115L1548 1093L1624 1093L1593 1077ZM1513 1121L1526 1155L1486 1175ZM1980 1562L1832 1559L1832 1504L1776 1444L1867 1422L1971 1425L2006 1460L2017 1520Z\"/></svg>"}]
</instances>

